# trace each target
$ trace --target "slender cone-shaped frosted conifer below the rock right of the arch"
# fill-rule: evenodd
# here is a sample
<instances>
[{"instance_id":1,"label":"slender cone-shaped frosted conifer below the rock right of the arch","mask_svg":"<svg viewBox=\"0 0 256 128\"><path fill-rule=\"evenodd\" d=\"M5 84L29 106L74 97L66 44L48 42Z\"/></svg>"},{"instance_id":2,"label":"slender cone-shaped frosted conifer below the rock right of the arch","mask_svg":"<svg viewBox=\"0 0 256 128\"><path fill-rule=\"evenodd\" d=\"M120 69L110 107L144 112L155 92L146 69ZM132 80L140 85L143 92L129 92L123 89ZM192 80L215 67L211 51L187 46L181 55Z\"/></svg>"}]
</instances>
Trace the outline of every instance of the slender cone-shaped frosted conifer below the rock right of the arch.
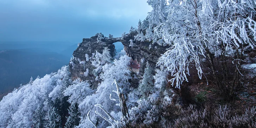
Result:
<instances>
[{"instance_id":1,"label":"slender cone-shaped frosted conifer below the rock right of the arch","mask_svg":"<svg viewBox=\"0 0 256 128\"><path fill-rule=\"evenodd\" d=\"M153 89L153 70L151 68L151 66L149 65L149 63L146 63L146 68L145 68L145 72L143 75L142 80L140 81L139 84L139 91L142 94L143 98L147 98L149 96L149 93L152 91Z\"/></svg>"}]
</instances>

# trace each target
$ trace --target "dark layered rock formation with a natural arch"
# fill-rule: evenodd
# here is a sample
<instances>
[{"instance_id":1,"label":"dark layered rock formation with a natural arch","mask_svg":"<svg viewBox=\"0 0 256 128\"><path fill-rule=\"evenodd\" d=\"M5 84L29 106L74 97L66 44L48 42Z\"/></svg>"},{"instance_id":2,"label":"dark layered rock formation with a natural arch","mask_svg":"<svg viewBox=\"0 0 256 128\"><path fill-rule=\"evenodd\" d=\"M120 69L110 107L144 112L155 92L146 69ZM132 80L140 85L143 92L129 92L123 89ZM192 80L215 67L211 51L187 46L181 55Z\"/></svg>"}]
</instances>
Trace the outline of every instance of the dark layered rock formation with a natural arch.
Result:
<instances>
[{"instance_id":1,"label":"dark layered rock formation with a natural arch","mask_svg":"<svg viewBox=\"0 0 256 128\"><path fill-rule=\"evenodd\" d=\"M72 78L80 78L83 81L88 81L92 85L92 88L97 88L100 81L95 81L96 77L92 73L95 68L91 65L90 61L86 61L86 58L91 57L96 51L102 53L104 47L108 47L111 55L114 56L115 45L113 45L113 43L120 41L124 45L124 50L127 55L141 65L139 74L132 73L133 78L131 79L131 84L136 87L139 84L140 74L143 74L144 72L145 62L148 61L153 67L155 67L158 58L168 47L134 40L135 35L136 33L129 33L121 38L107 38L104 36L102 38L98 38L96 34L94 37L87 39L84 38L82 43L79 44L77 49L73 52L74 58L71 59L69 63ZM133 43L135 43L135 46L133 47L129 46L131 39L134 40ZM89 74L87 74L87 70L89 71Z\"/></svg>"}]
</instances>

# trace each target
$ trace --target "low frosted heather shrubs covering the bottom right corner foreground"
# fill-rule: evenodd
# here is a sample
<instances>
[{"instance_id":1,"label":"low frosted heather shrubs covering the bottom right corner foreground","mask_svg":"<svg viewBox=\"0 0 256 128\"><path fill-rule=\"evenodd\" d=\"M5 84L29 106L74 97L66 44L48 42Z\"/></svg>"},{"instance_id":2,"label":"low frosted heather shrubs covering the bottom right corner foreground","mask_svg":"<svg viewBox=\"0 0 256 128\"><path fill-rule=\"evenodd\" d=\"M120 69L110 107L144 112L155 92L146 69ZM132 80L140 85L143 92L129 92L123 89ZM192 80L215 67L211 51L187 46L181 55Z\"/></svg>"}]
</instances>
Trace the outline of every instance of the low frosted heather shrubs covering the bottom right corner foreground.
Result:
<instances>
[{"instance_id":1,"label":"low frosted heather shrubs covering the bottom right corner foreground","mask_svg":"<svg viewBox=\"0 0 256 128\"><path fill-rule=\"evenodd\" d=\"M240 110L241 111L241 110ZM227 105L216 109L197 110L194 105L181 111L174 121L174 128L255 128L256 107L247 108L242 114L235 113Z\"/></svg>"}]
</instances>

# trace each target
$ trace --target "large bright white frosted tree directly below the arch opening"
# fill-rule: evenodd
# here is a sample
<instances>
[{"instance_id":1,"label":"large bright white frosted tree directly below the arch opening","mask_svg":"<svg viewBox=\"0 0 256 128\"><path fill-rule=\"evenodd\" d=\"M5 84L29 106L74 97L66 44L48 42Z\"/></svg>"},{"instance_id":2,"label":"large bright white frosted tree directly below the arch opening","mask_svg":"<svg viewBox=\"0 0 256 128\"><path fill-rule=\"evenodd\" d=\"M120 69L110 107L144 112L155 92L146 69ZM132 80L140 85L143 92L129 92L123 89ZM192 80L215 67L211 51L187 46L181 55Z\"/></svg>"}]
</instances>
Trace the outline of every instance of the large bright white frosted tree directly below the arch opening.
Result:
<instances>
[{"instance_id":1,"label":"large bright white frosted tree directly below the arch opening","mask_svg":"<svg viewBox=\"0 0 256 128\"><path fill-rule=\"evenodd\" d=\"M87 96L84 101L79 104L79 109L84 110L81 111L81 115L87 115L88 111L91 109L92 111L101 111L100 108L94 107L95 104L101 104L104 106L106 111L117 111L120 110L120 107L116 106L116 103L109 98L109 94L112 93L113 90L116 89L114 85L112 85L112 81L116 79L116 82L119 84L119 87L123 89L124 93L128 92L130 79L130 70L128 69L128 65L130 64L130 57L124 55L121 56L119 60L115 59L113 64L105 64L103 66L104 72L100 75L102 82L98 85L98 88L95 94ZM118 98L117 96L113 96L113 98ZM113 116L115 116L114 114ZM107 127L108 123L104 121L104 119L100 118L97 114L90 114L91 120L93 122L99 122L97 127ZM81 120L83 123L79 124L79 127L91 127L92 124L89 122L88 118ZM89 124L88 124L89 123Z\"/></svg>"}]
</instances>

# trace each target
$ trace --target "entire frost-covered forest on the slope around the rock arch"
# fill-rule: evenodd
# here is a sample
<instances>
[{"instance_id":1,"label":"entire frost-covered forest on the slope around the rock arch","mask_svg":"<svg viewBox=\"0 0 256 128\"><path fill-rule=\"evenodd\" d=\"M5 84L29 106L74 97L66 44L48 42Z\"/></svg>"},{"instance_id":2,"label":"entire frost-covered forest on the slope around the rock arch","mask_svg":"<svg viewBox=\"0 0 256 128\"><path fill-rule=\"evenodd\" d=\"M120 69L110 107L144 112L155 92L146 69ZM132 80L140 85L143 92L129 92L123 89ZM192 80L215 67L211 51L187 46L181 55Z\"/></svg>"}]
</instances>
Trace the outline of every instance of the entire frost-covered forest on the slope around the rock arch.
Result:
<instances>
[{"instance_id":1,"label":"entire frost-covered forest on the slope around the rock arch","mask_svg":"<svg viewBox=\"0 0 256 128\"><path fill-rule=\"evenodd\" d=\"M118 39L135 35L129 49L143 50L141 42L148 50L166 48L157 63L136 60L137 72L131 53L113 56L108 47L72 57L69 66L4 96L0 127L255 128L256 0L147 3L147 18ZM96 38L100 45L113 36ZM71 77L75 62L93 80Z\"/></svg>"}]
</instances>

